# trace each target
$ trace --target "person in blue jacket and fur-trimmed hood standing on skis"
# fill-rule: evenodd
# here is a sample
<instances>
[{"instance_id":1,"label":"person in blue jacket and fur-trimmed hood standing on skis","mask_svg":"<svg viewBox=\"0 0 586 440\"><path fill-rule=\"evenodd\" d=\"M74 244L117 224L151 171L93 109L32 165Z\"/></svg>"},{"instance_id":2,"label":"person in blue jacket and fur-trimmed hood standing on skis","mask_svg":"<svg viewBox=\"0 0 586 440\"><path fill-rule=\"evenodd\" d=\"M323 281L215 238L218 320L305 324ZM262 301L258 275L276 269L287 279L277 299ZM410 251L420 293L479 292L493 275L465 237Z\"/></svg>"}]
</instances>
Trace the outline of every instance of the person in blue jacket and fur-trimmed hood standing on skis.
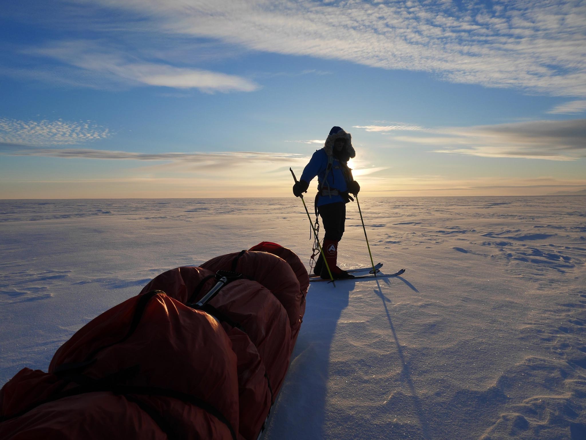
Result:
<instances>
[{"instance_id":1,"label":"person in blue jacket and fur-trimmed hood standing on skis","mask_svg":"<svg viewBox=\"0 0 586 440\"><path fill-rule=\"evenodd\" d=\"M347 162L355 157L352 136L340 127L332 127L321 150L317 150L305 166L298 182L293 185L293 194L299 197L307 192L309 182L318 177L318 194L315 196L316 214L322 218L325 235L323 253L334 279L353 278L353 275L340 269L338 262L338 242L344 233L346 204L360 191L360 185L353 180ZM353 200L353 199L352 199ZM321 253L315 263L315 275L329 279L328 269L323 264Z\"/></svg>"}]
</instances>

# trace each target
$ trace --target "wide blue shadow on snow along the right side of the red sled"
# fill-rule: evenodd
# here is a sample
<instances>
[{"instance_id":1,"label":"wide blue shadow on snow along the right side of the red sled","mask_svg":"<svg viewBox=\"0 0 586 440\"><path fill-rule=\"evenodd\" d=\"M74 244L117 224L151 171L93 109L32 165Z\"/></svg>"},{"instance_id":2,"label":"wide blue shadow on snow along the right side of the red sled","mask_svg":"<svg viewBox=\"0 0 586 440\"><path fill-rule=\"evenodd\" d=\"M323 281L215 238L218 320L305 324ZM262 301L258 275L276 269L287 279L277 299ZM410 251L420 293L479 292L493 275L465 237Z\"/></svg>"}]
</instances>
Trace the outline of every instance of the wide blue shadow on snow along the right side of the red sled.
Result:
<instances>
[{"instance_id":1,"label":"wide blue shadow on snow along the right side of the red sled","mask_svg":"<svg viewBox=\"0 0 586 440\"><path fill-rule=\"evenodd\" d=\"M354 284L309 288L301 332L264 439L325 438L330 350Z\"/></svg>"}]
</instances>

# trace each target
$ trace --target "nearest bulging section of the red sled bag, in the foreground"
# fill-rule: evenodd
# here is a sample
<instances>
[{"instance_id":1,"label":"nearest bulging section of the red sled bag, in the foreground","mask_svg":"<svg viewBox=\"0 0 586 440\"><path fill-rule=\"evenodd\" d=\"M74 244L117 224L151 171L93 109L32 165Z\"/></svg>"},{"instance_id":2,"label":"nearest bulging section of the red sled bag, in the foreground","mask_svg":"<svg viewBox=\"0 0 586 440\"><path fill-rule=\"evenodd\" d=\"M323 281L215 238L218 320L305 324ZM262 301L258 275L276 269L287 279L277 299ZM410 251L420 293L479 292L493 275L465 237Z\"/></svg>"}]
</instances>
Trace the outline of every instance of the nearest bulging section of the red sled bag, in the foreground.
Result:
<instances>
[{"instance_id":1,"label":"nearest bulging section of the red sled bag, in the foreground","mask_svg":"<svg viewBox=\"0 0 586 440\"><path fill-rule=\"evenodd\" d=\"M153 291L87 323L49 373L21 370L0 410L2 439L236 439L237 358L213 317Z\"/></svg>"}]
</instances>

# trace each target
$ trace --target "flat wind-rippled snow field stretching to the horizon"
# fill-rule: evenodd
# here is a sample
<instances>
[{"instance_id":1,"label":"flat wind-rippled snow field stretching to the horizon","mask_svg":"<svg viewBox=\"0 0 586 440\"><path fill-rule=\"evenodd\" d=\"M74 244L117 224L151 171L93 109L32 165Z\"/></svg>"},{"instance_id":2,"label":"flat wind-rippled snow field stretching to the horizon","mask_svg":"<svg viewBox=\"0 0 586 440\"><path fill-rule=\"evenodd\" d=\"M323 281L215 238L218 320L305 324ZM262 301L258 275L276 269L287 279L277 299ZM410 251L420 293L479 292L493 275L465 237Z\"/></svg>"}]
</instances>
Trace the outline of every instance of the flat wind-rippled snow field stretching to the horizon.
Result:
<instances>
[{"instance_id":1,"label":"flat wind-rippled snow field stretching to the horizon","mask_svg":"<svg viewBox=\"0 0 586 440\"><path fill-rule=\"evenodd\" d=\"M586 438L586 197L360 202L407 272L309 287L265 438ZM347 208L340 266L367 266ZM295 198L5 200L0 225L0 384L164 270L311 248Z\"/></svg>"}]
</instances>

